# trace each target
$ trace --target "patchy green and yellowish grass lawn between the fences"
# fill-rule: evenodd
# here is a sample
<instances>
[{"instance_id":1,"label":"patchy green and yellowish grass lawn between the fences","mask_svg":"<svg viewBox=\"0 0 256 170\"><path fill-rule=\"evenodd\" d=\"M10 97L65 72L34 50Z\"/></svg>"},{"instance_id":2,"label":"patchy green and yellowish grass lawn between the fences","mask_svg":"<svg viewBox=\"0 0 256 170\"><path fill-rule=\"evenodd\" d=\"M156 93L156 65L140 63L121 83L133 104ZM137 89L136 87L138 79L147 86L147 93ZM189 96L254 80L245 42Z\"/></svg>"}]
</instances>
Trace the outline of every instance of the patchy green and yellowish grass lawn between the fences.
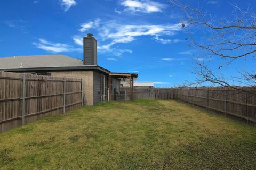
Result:
<instances>
[{"instance_id":1,"label":"patchy green and yellowish grass lawn between the fences","mask_svg":"<svg viewBox=\"0 0 256 170\"><path fill-rule=\"evenodd\" d=\"M0 169L255 168L255 128L172 100L101 103L0 134Z\"/></svg>"}]
</instances>

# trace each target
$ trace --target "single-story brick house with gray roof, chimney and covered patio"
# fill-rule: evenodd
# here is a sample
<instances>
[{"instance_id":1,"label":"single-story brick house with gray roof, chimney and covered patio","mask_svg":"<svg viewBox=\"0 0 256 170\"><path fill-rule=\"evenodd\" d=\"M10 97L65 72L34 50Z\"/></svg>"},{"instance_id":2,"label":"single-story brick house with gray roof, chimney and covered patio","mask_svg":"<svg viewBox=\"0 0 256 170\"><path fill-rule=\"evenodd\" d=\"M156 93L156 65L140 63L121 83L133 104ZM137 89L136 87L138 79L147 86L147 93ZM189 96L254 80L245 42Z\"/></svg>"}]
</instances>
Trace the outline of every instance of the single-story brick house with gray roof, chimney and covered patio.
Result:
<instances>
[{"instance_id":1,"label":"single-story brick house with gray roof, chimney and covered patio","mask_svg":"<svg viewBox=\"0 0 256 170\"><path fill-rule=\"evenodd\" d=\"M65 55L0 57L0 71L82 79L85 105L110 100L109 94L118 93L122 78L130 79L132 89L133 79L138 74L113 73L100 67L97 64L97 40L88 34L83 41L83 60Z\"/></svg>"}]
</instances>

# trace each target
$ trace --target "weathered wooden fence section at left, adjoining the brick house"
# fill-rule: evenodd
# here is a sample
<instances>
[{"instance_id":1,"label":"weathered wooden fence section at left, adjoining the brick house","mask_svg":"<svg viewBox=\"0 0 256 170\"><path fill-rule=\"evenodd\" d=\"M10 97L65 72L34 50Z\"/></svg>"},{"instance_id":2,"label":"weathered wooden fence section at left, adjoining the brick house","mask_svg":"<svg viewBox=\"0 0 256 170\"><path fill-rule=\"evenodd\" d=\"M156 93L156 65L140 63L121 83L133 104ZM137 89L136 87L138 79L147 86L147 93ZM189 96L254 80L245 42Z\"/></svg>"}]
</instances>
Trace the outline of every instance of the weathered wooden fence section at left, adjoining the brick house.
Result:
<instances>
[{"instance_id":1,"label":"weathered wooden fence section at left, adjoining the brick house","mask_svg":"<svg viewBox=\"0 0 256 170\"><path fill-rule=\"evenodd\" d=\"M0 72L0 133L83 105L81 79Z\"/></svg>"}]
</instances>

